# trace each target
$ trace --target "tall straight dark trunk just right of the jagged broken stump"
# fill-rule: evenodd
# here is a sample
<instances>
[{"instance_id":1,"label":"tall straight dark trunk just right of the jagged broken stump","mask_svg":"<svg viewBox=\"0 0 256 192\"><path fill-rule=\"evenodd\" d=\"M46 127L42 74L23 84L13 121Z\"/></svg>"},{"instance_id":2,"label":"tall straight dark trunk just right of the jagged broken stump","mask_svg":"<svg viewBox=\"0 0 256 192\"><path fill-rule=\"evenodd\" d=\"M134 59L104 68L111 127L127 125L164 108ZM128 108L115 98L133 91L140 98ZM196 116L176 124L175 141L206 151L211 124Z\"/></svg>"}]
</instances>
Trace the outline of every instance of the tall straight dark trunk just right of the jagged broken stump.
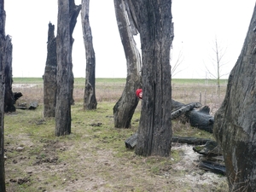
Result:
<instances>
[{"instance_id":1,"label":"tall straight dark trunk just right of the jagged broken stump","mask_svg":"<svg viewBox=\"0 0 256 192\"><path fill-rule=\"evenodd\" d=\"M71 104L73 102L72 34L80 10L81 5L76 6L74 0L58 0L55 136L71 133Z\"/></svg>"}]
</instances>

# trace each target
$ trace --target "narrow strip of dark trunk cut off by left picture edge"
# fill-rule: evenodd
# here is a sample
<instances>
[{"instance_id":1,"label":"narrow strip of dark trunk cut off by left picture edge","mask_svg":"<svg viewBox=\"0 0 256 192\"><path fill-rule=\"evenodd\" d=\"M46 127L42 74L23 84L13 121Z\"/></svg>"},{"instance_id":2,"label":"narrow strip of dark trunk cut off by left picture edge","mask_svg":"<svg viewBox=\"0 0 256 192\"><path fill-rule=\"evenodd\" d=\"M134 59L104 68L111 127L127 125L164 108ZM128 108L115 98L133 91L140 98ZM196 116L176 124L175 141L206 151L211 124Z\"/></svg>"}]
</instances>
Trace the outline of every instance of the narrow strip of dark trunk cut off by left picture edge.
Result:
<instances>
[{"instance_id":1,"label":"narrow strip of dark trunk cut off by left picture edge","mask_svg":"<svg viewBox=\"0 0 256 192\"><path fill-rule=\"evenodd\" d=\"M4 94L5 94L5 73L4 67L7 56L6 42L10 41L9 36L5 37L5 11L4 1L0 0L0 191L5 191L5 172L4 172Z\"/></svg>"}]
</instances>

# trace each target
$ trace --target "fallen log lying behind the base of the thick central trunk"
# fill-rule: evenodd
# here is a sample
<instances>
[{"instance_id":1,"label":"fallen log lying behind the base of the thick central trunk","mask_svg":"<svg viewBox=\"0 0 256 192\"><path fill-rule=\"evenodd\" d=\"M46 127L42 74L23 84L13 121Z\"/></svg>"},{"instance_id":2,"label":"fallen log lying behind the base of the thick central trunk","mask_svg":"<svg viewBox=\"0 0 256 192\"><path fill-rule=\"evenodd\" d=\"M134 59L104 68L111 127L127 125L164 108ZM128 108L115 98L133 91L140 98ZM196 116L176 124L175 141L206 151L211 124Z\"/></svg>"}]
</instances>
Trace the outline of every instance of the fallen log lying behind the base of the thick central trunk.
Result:
<instances>
[{"instance_id":1,"label":"fallen log lying behind the base of the thick central trunk","mask_svg":"<svg viewBox=\"0 0 256 192\"><path fill-rule=\"evenodd\" d=\"M172 137L172 143L187 143L193 145L203 145L207 142L211 142L211 139L207 138L197 138L197 137ZM125 140L126 148L135 148L137 145L137 133L133 134L131 137Z\"/></svg>"}]
</instances>

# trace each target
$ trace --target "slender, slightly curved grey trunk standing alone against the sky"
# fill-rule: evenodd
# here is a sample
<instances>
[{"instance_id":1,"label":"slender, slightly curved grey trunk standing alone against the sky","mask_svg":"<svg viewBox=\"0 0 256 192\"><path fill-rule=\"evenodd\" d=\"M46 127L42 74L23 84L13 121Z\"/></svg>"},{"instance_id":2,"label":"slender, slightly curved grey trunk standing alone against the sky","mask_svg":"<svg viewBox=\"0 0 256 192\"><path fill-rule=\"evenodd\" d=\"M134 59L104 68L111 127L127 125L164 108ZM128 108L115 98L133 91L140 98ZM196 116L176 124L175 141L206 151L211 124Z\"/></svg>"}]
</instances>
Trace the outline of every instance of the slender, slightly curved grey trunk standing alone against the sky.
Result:
<instances>
[{"instance_id":1,"label":"slender, slightly curved grey trunk standing alone against the sky","mask_svg":"<svg viewBox=\"0 0 256 192\"><path fill-rule=\"evenodd\" d=\"M95 52L92 44L92 35L89 21L89 3L90 0L82 0L82 27L84 35L84 48L86 55L86 73L84 88L84 109L96 109L97 101L95 95Z\"/></svg>"}]
</instances>

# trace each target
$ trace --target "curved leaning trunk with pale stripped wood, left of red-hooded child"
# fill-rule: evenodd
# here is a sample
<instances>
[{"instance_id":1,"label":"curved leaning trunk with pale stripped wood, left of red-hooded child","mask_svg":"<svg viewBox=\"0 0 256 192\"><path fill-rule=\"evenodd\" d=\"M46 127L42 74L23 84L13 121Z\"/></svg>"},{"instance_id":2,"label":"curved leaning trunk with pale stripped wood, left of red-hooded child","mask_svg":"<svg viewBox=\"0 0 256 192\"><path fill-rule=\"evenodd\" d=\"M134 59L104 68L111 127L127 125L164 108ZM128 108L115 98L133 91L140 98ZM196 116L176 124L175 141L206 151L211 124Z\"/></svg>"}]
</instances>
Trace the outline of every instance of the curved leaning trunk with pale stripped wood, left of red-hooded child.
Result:
<instances>
[{"instance_id":1,"label":"curved leaning trunk with pale stripped wood, left of red-hooded child","mask_svg":"<svg viewBox=\"0 0 256 192\"><path fill-rule=\"evenodd\" d=\"M141 87L141 61L139 51L133 39L133 32L136 31L131 27L132 25L129 25L129 23L132 23L132 20L127 20L125 17L125 15L130 14L130 9L124 0L114 0L113 2L119 35L125 50L127 67L125 90L113 107L114 127L129 128L138 103L135 92L137 88Z\"/></svg>"}]
</instances>

